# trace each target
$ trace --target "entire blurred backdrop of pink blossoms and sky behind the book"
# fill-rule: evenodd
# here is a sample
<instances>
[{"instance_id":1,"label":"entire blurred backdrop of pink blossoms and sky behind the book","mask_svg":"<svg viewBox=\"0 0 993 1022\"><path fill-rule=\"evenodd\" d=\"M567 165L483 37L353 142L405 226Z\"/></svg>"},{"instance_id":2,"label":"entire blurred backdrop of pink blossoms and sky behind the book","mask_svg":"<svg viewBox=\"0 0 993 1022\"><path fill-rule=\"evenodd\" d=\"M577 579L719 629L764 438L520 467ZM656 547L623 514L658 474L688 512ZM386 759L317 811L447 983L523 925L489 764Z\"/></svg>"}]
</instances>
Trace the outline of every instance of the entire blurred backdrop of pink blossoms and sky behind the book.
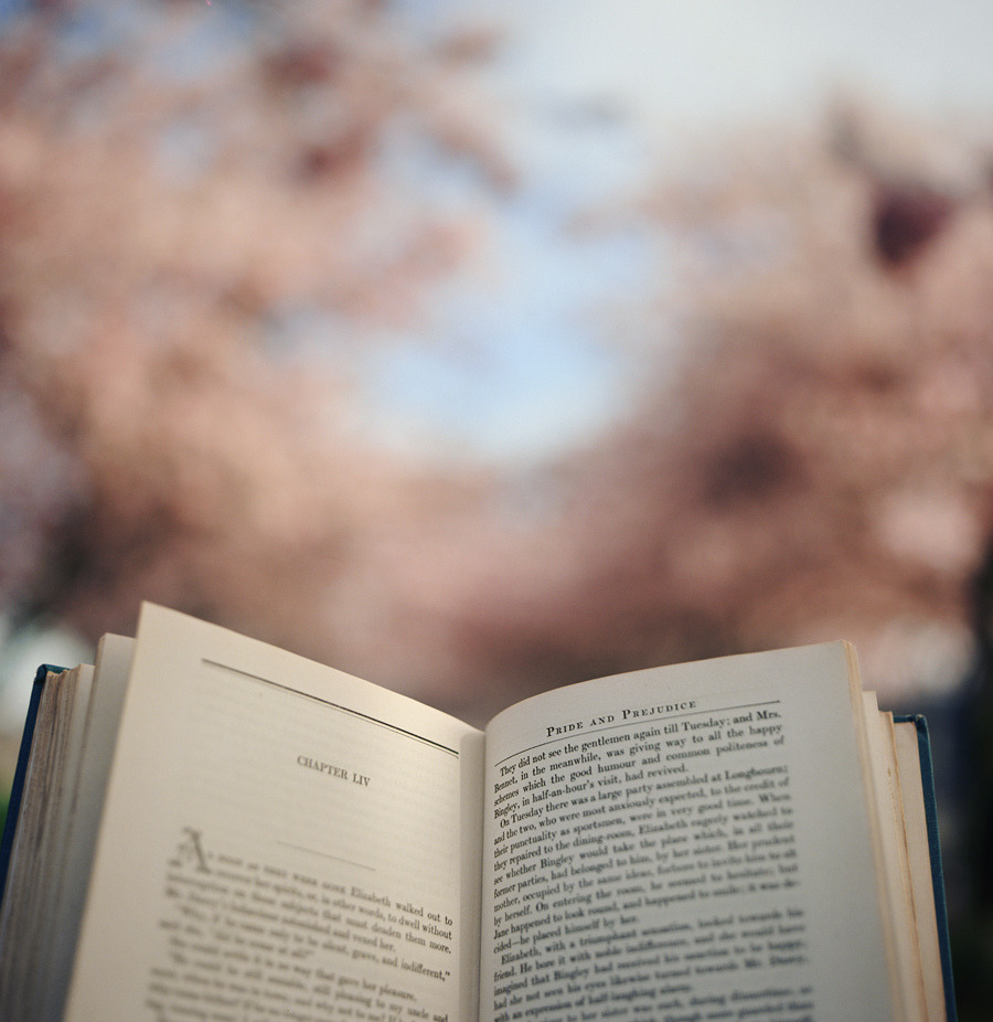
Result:
<instances>
[{"instance_id":1,"label":"entire blurred backdrop of pink blossoms and sky behind the book","mask_svg":"<svg viewBox=\"0 0 993 1022\"><path fill-rule=\"evenodd\" d=\"M0 0L0 733L153 599L474 722L844 637L993 1007L993 6Z\"/></svg>"}]
</instances>

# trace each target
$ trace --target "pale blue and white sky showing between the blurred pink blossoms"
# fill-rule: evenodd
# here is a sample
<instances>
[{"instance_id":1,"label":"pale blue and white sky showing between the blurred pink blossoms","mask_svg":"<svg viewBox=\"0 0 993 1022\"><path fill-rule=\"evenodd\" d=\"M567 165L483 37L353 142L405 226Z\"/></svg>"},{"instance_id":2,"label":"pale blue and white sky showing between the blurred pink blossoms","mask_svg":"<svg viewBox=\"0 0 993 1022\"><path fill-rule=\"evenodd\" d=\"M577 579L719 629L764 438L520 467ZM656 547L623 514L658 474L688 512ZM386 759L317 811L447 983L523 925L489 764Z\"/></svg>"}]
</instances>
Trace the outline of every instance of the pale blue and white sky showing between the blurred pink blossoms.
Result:
<instances>
[{"instance_id":1,"label":"pale blue and white sky showing between the blurred pink blossoms","mask_svg":"<svg viewBox=\"0 0 993 1022\"><path fill-rule=\"evenodd\" d=\"M484 81L508 111L501 131L521 173L485 265L441 296L430 345L399 339L363 373L360 418L412 457L541 461L622 414L637 344L611 343L598 312L637 301L648 279L664 286L666 253L630 224L579 243L569 224L634 194L690 143L818 117L840 93L926 117L989 115L993 98L987 0L420 0L409 10L420 30L504 28Z\"/></svg>"}]
</instances>

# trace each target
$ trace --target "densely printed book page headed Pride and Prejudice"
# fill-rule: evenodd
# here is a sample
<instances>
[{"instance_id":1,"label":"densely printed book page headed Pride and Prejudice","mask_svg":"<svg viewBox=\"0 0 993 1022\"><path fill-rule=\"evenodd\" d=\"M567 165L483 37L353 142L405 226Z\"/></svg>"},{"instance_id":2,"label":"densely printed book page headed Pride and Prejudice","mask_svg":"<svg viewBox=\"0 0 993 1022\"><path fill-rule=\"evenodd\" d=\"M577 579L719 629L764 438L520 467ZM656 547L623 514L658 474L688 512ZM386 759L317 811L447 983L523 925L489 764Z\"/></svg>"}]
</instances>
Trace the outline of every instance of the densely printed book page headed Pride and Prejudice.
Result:
<instances>
[{"instance_id":1,"label":"densely printed book page headed Pride and Prejudice","mask_svg":"<svg viewBox=\"0 0 993 1022\"><path fill-rule=\"evenodd\" d=\"M845 643L554 690L487 731L480 1018L897 1020Z\"/></svg>"}]
</instances>

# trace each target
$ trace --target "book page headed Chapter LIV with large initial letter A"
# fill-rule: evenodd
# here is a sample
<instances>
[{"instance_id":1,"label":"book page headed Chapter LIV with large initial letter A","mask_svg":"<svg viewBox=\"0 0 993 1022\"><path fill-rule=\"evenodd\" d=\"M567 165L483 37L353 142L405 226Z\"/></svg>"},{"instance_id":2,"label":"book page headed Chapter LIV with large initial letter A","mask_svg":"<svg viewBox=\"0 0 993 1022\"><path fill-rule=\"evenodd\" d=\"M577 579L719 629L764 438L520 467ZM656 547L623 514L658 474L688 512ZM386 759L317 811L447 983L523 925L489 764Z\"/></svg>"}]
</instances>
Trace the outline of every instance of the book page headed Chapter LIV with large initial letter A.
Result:
<instances>
[{"instance_id":1,"label":"book page headed Chapter LIV with large initial letter A","mask_svg":"<svg viewBox=\"0 0 993 1022\"><path fill-rule=\"evenodd\" d=\"M482 736L142 610L65 1016L469 1019Z\"/></svg>"}]
</instances>

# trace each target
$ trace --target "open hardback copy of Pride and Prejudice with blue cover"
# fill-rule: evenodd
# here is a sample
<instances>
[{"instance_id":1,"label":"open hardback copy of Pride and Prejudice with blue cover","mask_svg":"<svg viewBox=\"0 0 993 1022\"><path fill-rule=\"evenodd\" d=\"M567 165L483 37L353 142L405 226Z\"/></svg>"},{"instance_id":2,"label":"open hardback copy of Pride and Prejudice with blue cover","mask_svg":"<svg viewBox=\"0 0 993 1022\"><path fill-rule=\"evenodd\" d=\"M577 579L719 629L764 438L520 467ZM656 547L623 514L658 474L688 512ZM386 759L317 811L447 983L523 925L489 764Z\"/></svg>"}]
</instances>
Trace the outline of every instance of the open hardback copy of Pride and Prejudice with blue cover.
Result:
<instances>
[{"instance_id":1,"label":"open hardback copy of Pride and Prejudice with blue cover","mask_svg":"<svg viewBox=\"0 0 993 1022\"><path fill-rule=\"evenodd\" d=\"M918 725L845 643L570 685L480 732L146 605L36 690L0 1018L953 1011Z\"/></svg>"}]
</instances>

